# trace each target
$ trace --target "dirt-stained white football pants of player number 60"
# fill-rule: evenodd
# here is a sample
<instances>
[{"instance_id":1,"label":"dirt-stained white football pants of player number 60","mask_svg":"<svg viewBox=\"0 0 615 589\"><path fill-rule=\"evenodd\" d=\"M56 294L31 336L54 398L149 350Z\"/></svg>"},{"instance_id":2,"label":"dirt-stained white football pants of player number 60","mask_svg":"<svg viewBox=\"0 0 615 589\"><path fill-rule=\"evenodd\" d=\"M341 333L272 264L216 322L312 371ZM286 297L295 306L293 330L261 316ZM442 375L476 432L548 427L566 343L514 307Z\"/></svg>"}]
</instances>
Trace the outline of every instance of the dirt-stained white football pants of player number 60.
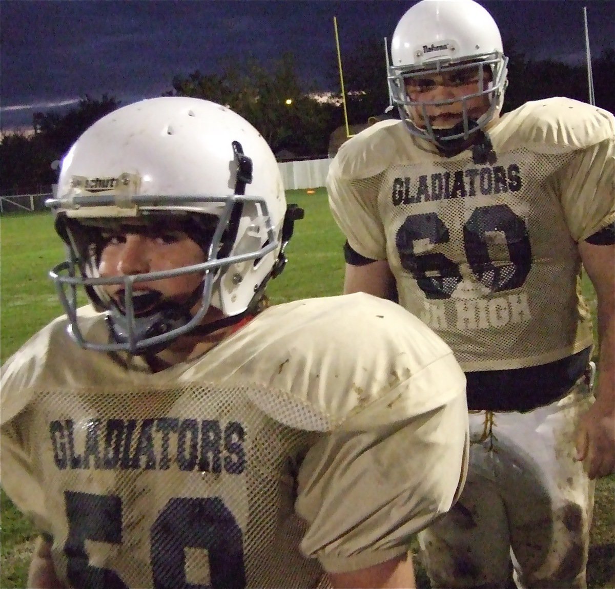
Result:
<instances>
[{"instance_id":1,"label":"dirt-stained white football pants of player number 60","mask_svg":"<svg viewBox=\"0 0 615 589\"><path fill-rule=\"evenodd\" d=\"M593 481L574 433L589 376L528 413L470 412L470 467L458 504L419 534L432 588L584 588ZM514 391L502 392L514 394Z\"/></svg>"}]
</instances>

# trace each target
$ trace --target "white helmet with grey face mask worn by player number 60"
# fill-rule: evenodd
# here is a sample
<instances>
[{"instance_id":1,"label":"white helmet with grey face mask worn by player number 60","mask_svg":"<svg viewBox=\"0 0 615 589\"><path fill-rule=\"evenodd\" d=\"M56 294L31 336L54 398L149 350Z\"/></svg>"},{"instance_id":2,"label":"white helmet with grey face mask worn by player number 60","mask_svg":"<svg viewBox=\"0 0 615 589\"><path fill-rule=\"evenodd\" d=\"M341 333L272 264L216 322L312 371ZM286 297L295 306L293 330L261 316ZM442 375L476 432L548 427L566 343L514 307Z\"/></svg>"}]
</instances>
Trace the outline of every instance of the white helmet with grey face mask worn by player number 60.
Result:
<instances>
[{"instance_id":1,"label":"white helmet with grey face mask worn by player number 60","mask_svg":"<svg viewBox=\"0 0 615 589\"><path fill-rule=\"evenodd\" d=\"M504 56L502 38L493 17L474 0L421 0L401 18L391 41L389 88L400 117L408 130L441 151L455 151L456 146L477 133L502 108L506 90L508 58ZM452 100L413 101L406 91L408 79L429 74L478 66L478 92ZM483 72L490 82L483 84ZM467 101L486 96L489 108L472 120ZM461 101L463 119L453 128L436 129L429 122L427 105L448 105ZM413 111L423 113L423 124L413 121Z\"/></svg>"}]
</instances>

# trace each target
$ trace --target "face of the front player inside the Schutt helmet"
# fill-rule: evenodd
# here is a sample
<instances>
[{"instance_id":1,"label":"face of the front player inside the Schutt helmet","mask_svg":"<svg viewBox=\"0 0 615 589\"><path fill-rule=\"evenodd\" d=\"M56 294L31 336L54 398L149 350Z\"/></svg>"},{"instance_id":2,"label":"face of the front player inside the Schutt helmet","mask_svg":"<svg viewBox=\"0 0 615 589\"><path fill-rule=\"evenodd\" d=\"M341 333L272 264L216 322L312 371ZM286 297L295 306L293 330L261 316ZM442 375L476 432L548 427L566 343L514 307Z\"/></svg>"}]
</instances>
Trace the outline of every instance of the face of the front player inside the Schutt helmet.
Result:
<instances>
[{"instance_id":1,"label":"face of the front player inside the Schutt helmet","mask_svg":"<svg viewBox=\"0 0 615 589\"><path fill-rule=\"evenodd\" d=\"M169 226L122 225L102 232L98 272L101 277L124 277L148 272L175 270L205 261L204 251L188 235ZM136 282L133 301L138 313L147 312L159 302L186 302L202 281L202 272ZM106 285L107 294L120 307L121 285ZM157 295L157 296L156 296Z\"/></svg>"}]
</instances>

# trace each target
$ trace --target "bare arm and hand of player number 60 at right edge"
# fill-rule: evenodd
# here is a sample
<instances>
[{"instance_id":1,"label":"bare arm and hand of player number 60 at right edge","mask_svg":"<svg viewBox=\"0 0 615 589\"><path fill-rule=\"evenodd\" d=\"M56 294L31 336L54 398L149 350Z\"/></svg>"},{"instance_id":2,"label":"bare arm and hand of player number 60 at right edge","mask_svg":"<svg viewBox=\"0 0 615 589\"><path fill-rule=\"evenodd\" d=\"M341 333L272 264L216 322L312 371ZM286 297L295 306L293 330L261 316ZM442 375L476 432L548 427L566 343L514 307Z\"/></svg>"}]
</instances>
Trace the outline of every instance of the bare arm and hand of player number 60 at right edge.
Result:
<instances>
[{"instance_id":1,"label":"bare arm and hand of player number 60 at right edge","mask_svg":"<svg viewBox=\"0 0 615 589\"><path fill-rule=\"evenodd\" d=\"M579 254L598 301L599 374L596 401L581 419L576 447L589 477L597 478L615 472L615 243L591 241L579 242Z\"/></svg>"}]
</instances>

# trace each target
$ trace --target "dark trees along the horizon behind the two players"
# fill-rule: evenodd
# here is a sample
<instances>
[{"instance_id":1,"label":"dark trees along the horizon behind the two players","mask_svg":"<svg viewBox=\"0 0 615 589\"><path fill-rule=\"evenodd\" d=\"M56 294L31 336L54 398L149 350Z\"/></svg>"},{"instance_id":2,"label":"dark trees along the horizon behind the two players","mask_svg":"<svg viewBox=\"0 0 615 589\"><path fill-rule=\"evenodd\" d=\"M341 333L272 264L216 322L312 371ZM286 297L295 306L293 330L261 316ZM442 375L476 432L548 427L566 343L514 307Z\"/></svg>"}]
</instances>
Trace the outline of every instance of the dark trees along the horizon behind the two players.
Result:
<instances>
[{"instance_id":1,"label":"dark trees along the horizon behind the two players","mask_svg":"<svg viewBox=\"0 0 615 589\"><path fill-rule=\"evenodd\" d=\"M565 96L587 101L589 90L585 65L553 60L533 60L505 45L509 55L509 87L504 111L528 100ZM595 103L615 113L615 49L606 49L593 61ZM389 105L384 79L386 61L381 40L368 39L343 64L346 111L349 124L367 124ZM339 87L339 71L327 71L331 86ZM206 98L230 106L250 121L268 141L274 153L285 149L298 157L323 157L331 133L344 124L337 103L317 100L313 88L301 83L293 55L287 53L271 69L248 61L240 71L229 67L222 73L173 77L169 96ZM341 94L338 92L338 98ZM57 180L58 161L84 130L100 117L121 106L116 98L85 95L62 114L56 111L33 115L34 133L7 133L0 142L1 194L49 191Z\"/></svg>"}]
</instances>

